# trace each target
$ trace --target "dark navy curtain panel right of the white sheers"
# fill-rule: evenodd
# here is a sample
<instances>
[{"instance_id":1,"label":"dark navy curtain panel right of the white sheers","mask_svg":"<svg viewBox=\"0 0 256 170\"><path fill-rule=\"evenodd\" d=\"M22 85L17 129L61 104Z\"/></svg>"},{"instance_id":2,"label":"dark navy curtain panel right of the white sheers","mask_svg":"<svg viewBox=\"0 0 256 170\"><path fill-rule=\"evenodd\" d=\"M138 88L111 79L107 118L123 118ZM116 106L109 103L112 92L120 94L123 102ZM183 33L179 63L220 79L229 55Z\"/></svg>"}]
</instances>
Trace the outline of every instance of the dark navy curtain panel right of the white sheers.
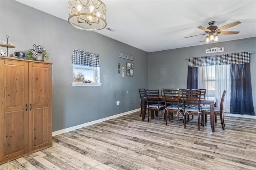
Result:
<instances>
[{"instance_id":1,"label":"dark navy curtain panel right of the white sheers","mask_svg":"<svg viewBox=\"0 0 256 170\"><path fill-rule=\"evenodd\" d=\"M233 64L230 66L230 113L254 115L250 64Z\"/></svg>"}]
</instances>

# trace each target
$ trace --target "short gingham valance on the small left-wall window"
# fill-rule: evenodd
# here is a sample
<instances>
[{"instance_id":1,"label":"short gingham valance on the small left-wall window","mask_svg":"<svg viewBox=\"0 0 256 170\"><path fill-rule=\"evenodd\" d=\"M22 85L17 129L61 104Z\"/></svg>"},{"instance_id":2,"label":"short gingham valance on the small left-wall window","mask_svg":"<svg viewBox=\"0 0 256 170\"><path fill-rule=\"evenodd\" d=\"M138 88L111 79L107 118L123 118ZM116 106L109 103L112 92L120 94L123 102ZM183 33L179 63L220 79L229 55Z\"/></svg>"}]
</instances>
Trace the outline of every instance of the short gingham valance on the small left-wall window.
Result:
<instances>
[{"instance_id":1,"label":"short gingham valance on the small left-wall window","mask_svg":"<svg viewBox=\"0 0 256 170\"><path fill-rule=\"evenodd\" d=\"M85 65L90 67L100 67L100 57L98 54L73 49L72 64Z\"/></svg>"}]
</instances>

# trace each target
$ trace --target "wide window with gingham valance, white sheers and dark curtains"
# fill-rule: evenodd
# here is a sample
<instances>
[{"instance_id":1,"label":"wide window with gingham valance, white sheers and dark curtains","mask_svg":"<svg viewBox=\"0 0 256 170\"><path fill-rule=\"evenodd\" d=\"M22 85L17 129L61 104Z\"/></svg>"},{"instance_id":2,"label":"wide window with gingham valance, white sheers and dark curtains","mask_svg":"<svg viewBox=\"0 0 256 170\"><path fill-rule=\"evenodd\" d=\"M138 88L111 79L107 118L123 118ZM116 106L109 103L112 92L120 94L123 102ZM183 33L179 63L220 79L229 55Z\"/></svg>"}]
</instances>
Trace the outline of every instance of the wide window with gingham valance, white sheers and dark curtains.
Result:
<instances>
[{"instance_id":1,"label":"wide window with gingham valance, white sheers and dark curtains","mask_svg":"<svg viewBox=\"0 0 256 170\"><path fill-rule=\"evenodd\" d=\"M227 90L224 111L255 114L250 80L250 52L188 58L188 88L207 89L207 96L218 100ZM198 72L193 71L198 68ZM198 78L190 78L196 77ZM198 81L198 82L195 82ZM217 102L220 105L220 102Z\"/></svg>"}]
</instances>

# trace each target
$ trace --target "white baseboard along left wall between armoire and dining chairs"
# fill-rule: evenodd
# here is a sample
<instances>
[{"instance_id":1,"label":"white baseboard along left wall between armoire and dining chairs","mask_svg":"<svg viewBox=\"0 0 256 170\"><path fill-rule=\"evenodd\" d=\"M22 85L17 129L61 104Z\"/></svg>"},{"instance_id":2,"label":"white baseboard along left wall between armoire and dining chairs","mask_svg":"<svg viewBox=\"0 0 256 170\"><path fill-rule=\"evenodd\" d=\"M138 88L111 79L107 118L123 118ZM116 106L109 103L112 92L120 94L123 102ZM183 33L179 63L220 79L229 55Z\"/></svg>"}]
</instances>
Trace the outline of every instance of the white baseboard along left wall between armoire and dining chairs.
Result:
<instances>
[{"instance_id":1,"label":"white baseboard along left wall between armoire and dining chairs","mask_svg":"<svg viewBox=\"0 0 256 170\"><path fill-rule=\"evenodd\" d=\"M65 132L69 132L69 131L72 131L72 130L76 130L78 128L82 128L82 127L87 127L89 125L93 125L95 123L100 123L100 122L103 122L103 121L107 121L109 119L114 119L116 117L120 117L120 116L123 116L123 115L127 115L127 114L130 114L130 113L134 113L136 111L140 111L140 109L135 109L135 110L132 110L132 111L128 111L128 112L124 112L124 113L120 113L118 115L113 115L113 116L110 116L110 117L105 117L105 118L102 118L102 119L99 119L99 120L96 120L96 121L91 121L91 122L88 122L88 123L84 123L84 124L81 124L81 125L76 125L74 127L69 127L69 128L64 128L62 130L57 130L55 132L52 132L52 136L55 136L55 135L58 135L58 134L62 134L62 133L65 133Z\"/></svg>"}]
</instances>

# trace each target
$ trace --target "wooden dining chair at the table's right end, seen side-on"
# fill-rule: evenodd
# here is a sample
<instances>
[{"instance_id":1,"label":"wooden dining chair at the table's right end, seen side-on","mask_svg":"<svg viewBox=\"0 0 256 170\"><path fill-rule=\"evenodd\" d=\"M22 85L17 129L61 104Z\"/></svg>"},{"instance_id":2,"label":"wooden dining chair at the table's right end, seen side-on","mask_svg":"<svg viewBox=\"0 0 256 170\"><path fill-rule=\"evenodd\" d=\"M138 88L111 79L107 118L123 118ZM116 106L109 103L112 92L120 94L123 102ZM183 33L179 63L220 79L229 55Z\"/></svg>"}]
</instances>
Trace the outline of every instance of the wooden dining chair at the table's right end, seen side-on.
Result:
<instances>
[{"instance_id":1,"label":"wooden dining chair at the table's right end, seen side-on","mask_svg":"<svg viewBox=\"0 0 256 170\"><path fill-rule=\"evenodd\" d=\"M223 130L225 129L223 103L224 103L224 98L225 98L226 92L227 91L224 90L222 93L222 97L220 100L220 107L214 107L215 123L217 123L217 115L220 115L220 123L221 123ZM210 107L209 106L202 107L203 127L204 127L204 122L205 122L205 124L207 123L207 114L210 114ZM205 121L204 121L204 119L205 119Z\"/></svg>"}]
</instances>

